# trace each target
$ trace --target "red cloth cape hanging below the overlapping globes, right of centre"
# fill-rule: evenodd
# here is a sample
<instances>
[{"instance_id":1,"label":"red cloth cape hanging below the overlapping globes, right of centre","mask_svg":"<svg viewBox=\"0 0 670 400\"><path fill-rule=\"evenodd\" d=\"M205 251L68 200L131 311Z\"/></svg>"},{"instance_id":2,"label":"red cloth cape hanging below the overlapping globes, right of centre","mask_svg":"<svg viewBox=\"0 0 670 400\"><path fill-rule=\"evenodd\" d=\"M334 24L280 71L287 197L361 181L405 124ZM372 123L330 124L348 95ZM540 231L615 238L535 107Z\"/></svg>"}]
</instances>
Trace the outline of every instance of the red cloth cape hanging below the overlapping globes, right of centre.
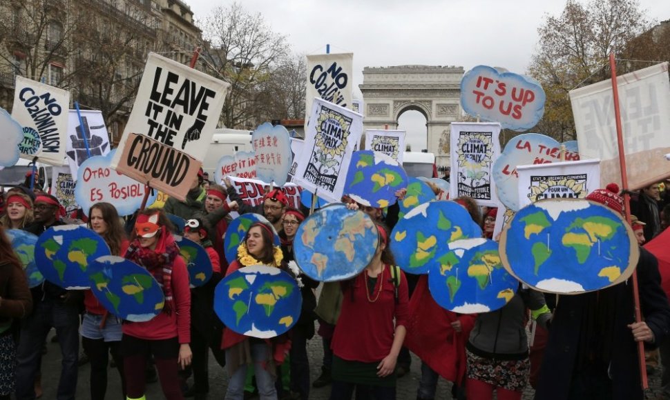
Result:
<instances>
[{"instance_id":1,"label":"red cloth cape hanging below the overlapping globes, right of centre","mask_svg":"<svg viewBox=\"0 0 670 400\"><path fill-rule=\"evenodd\" d=\"M410 300L405 346L441 377L460 384L466 376L466 342L476 318L441 308L428 290L428 275L423 275ZM461 321L461 332L452 328L454 321Z\"/></svg>"}]
</instances>

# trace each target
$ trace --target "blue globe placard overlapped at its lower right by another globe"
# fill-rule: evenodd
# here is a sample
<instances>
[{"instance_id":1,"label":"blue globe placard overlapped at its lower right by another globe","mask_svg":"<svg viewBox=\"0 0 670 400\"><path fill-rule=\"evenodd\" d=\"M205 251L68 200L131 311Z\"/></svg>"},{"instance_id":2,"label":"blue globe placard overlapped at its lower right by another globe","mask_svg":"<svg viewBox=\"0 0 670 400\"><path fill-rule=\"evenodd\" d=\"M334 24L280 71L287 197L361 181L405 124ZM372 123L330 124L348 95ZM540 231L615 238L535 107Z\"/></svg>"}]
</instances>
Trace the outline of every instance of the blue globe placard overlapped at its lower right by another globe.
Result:
<instances>
[{"instance_id":1,"label":"blue globe placard overlapped at its lower right by another globe","mask_svg":"<svg viewBox=\"0 0 670 400\"><path fill-rule=\"evenodd\" d=\"M391 250L396 263L410 274L428 274L448 261L452 241L481 237L481 228L454 201L423 203L396 223Z\"/></svg>"}]
</instances>

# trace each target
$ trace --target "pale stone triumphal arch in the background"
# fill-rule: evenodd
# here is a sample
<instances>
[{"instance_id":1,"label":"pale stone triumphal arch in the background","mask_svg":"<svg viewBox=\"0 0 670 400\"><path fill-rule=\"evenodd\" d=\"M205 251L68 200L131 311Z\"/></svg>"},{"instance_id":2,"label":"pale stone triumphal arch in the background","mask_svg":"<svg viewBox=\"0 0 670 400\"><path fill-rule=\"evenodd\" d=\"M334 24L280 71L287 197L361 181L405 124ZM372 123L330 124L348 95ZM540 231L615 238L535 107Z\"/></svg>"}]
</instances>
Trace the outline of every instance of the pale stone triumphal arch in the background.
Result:
<instances>
[{"instance_id":1,"label":"pale stone triumphal arch in the background","mask_svg":"<svg viewBox=\"0 0 670 400\"><path fill-rule=\"evenodd\" d=\"M358 88L363 93L364 128L397 129L403 112L417 110L428 121L428 152L435 154L438 168L448 166L450 124L461 115L463 73L463 67L455 66L363 68Z\"/></svg>"}]
</instances>

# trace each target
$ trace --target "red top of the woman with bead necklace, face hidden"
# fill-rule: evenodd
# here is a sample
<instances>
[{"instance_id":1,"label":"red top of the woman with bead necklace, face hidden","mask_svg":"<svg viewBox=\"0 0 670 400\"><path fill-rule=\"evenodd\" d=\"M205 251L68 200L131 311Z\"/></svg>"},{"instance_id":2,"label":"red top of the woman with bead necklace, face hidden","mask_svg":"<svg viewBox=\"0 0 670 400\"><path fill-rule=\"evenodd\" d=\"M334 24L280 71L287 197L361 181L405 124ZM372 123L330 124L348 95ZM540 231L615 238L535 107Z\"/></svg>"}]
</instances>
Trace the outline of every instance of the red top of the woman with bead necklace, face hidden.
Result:
<instances>
[{"instance_id":1,"label":"red top of the woman with bead necklace, face hidden","mask_svg":"<svg viewBox=\"0 0 670 400\"><path fill-rule=\"evenodd\" d=\"M343 282L342 310L335 325L331 344L337 357L348 361L372 363L381 361L389 354L395 327L407 326L408 319L407 279L404 272L400 271L400 274L397 303L389 266L385 266L379 274L374 292L370 294L370 299L374 300L381 281L383 285L381 294L374 303L368 300L365 293L367 272L364 271L354 279Z\"/></svg>"}]
</instances>

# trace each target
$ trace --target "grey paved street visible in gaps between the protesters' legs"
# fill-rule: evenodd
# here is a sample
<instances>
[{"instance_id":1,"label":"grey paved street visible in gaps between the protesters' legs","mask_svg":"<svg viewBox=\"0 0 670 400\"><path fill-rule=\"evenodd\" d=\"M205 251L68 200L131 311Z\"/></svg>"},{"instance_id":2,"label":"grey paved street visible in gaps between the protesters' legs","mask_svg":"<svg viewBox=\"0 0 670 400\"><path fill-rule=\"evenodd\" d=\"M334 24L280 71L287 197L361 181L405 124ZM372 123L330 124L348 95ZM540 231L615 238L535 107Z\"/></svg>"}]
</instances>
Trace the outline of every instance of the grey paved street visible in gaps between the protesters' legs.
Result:
<instances>
[{"instance_id":1,"label":"grey paved street visible in gaps between the protesters' legs","mask_svg":"<svg viewBox=\"0 0 670 400\"><path fill-rule=\"evenodd\" d=\"M50 335L51 337L51 335ZM44 388L44 396L42 399L51 400L56 398L56 387L60 373L60 349L57 343L48 343L48 354L44 357L42 363L42 373L44 374L42 386ZM316 379L320 373L320 359L322 356L321 341L318 336L312 341L309 341L309 362L312 369L312 379ZM416 357L412 359L412 371L410 374L402 377L398 381L397 398L399 400L416 399L417 387L419 386L419 379L421 379L420 363ZM79 384L77 385L77 399L88 399L88 364L79 368ZM210 392L209 399L223 399L226 385L227 374L220 368L213 357L210 357ZM121 391L119 390L119 375L115 369L109 370L109 384L107 390L107 399L117 400L122 399ZM651 389L647 395L647 399L655 399L658 396L660 388L660 370L654 372L649 383ZM327 400L330 394L330 386L320 389L313 389L310 399ZM149 383L147 385L146 399L158 400L163 399L159 383ZM443 379L440 379L438 386L438 395L436 399L446 400L451 399L450 384ZM524 400L533 399L533 390L526 390Z\"/></svg>"}]
</instances>

